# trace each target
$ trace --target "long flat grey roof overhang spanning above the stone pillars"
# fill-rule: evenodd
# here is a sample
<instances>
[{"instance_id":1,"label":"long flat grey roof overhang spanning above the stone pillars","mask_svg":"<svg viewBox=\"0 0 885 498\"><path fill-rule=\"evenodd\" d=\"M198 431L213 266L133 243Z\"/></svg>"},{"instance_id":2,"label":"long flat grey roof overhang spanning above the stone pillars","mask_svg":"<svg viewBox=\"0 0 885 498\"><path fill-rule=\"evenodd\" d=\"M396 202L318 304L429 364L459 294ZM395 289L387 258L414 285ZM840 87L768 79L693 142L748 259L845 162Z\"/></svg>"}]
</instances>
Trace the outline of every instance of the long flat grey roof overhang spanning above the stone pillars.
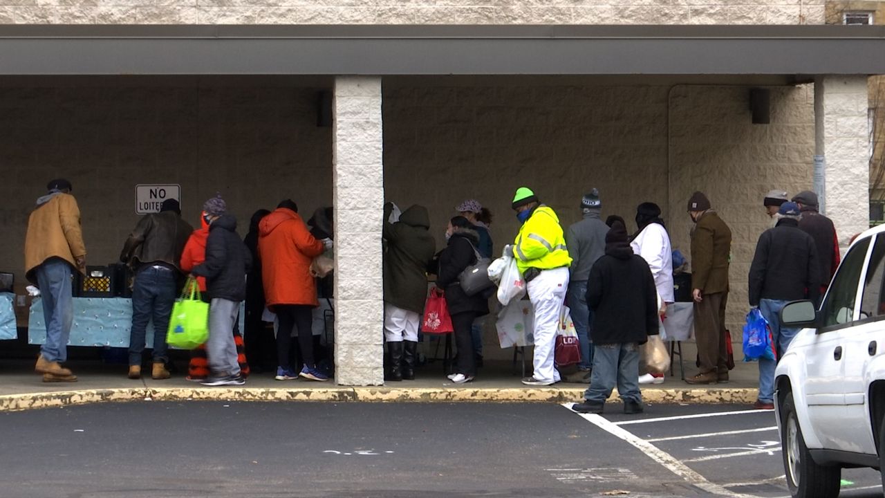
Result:
<instances>
[{"instance_id":1,"label":"long flat grey roof overhang spanning above the stone pillars","mask_svg":"<svg viewBox=\"0 0 885 498\"><path fill-rule=\"evenodd\" d=\"M0 26L0 75L885 74L885 26Z\"/></svg>"}]
</instances>

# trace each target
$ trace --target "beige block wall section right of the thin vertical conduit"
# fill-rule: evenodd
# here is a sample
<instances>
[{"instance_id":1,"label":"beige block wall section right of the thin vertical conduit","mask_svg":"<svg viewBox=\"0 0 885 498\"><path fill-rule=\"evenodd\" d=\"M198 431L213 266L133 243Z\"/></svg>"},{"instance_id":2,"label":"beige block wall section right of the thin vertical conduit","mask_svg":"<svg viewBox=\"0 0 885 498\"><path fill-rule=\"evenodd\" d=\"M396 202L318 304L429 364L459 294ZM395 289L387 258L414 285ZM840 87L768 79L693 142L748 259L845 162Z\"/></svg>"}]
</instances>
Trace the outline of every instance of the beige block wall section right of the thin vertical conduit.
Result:
<instances>
[{"instance_id":1,"label":"beige block wall section right of the thin vertical conduit","mask_svg":"<svg viewBox=\"0 0 885 498\"><path fill-rule=\"evenodd\" d=\"M688 200L703 191L732 230L727 326L735 341L749 307L750 262L771 226L762 198L812 186L813 88L771 90L770 124L751 123L746 87L676 87L670 100L670 237L690 258Z\"/></svg>"}]
</instances>

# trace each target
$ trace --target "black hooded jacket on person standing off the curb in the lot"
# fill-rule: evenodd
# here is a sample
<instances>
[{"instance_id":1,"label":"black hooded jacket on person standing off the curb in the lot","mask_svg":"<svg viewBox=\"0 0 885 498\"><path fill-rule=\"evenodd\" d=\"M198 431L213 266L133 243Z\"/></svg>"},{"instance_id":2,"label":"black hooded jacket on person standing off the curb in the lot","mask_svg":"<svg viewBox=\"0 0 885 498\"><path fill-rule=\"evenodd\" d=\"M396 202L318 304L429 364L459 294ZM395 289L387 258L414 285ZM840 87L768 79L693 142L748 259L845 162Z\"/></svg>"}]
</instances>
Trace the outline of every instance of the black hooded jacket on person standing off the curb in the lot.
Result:
<instances>
[{"instance_id":1,"label":"black hooded jacket on person standing off the curb in the lot","mask_svg":"<svg viewBox=\"0 0 885 498\"><path fill-rule=\"evenodd\" d=\"M658 293L651 270L627 244L620 222L609 230L605 254L590 269L587 305L594 312L594 344L644 344L658 333Z\"/></svg>"}]
</instances>

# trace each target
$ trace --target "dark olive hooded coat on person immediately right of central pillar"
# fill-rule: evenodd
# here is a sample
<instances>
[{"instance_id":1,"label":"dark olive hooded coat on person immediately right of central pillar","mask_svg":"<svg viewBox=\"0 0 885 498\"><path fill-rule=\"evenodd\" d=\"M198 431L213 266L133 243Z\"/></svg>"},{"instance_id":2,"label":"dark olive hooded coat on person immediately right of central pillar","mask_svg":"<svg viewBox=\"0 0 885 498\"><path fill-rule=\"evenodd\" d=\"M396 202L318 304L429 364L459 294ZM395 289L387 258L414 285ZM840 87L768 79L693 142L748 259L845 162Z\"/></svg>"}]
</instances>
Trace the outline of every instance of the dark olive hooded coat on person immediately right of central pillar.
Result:
<instances>
[{"instance_id":1,"label":"dark olive hooded coat on person immediately right of central pillar","mask_svg":"<svg viewBox=\"0 0 885 498\"><path fill-rule=\"evenodd\" d=\"M399 222L390 223L391 205L384 206L384 302L420 314L427 298L427 266L436 242L430 235L427 207L406 209Z\"/></svg>"}]
</instances>

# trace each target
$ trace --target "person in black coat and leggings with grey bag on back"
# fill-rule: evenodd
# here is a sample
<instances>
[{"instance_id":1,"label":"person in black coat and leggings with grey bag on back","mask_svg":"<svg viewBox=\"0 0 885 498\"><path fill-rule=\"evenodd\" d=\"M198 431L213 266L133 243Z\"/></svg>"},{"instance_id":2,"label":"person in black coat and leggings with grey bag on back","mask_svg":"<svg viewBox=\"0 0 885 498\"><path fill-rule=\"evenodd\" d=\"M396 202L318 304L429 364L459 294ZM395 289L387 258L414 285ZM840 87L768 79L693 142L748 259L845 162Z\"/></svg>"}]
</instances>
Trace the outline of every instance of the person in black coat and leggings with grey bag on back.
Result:
<instances>
[{"instance_id":1,"label":"person in black coat and leggings with grey bag on back","mask_svg":"<svg viewBox=\"0 0 885 498\"><path fill-rule=\"evenodd\" d=\"M476 264L476 245L480 236L464 216L455 216L446 230L449 244L439 254L439 272L436 285L445 292L445 302L449 306L451 324L455 329L455 346L458 358L455 371L449 379L455 384L470 382L476 377L476 356L473 351L473 320L489 314L489 300L482 292L468 296L458 280L467 267Z\"/></svg>"}]
</instances>

